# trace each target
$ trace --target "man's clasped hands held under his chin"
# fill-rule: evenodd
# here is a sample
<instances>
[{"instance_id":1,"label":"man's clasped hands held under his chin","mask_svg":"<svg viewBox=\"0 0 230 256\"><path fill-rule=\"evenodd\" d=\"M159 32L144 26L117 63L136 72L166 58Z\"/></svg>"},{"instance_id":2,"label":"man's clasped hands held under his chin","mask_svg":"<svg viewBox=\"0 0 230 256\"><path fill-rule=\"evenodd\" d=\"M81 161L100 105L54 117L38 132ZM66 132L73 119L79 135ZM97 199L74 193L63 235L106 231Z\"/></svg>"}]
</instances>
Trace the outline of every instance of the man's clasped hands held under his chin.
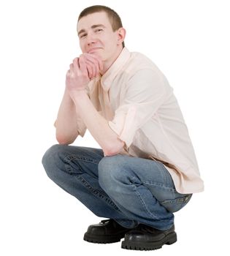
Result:
<instances>
[{"instance_id":1,"label":"man's clasped hands held under his chin","mask_svg":"<svg viewBox=\"0 0 230 256\"><path fill-rule=\"evenodd\" d=\"M83 53L69 65L66 73L66 89L70 94L85 91L88 83L103 70L101 59L90 53Z\"/></svg>"}]
</instances>

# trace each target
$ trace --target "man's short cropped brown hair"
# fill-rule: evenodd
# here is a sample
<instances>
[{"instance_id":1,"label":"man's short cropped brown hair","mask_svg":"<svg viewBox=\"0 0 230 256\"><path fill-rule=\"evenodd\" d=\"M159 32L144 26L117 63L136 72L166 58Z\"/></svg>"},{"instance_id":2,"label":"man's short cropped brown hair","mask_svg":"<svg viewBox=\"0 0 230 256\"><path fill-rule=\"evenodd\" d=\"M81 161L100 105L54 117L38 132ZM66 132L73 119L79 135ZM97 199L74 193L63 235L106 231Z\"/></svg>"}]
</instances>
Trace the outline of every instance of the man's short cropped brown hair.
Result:
<instances>
[{"instance_id":1,"label":"man's short cropped brown hair","mask_svg":"<svg viewBox=\"0 0 230 256\"><path fill-rule=\"evenodd\" d=\"M110 7L106 7L104 5L93 5L91 7L85 8L78 17L77 22L85 17L86 15L92 14L94 12L105 12L110 20L110 24L112 26L112 31L117 31L118 29L122 28L122 22L120 16L118 15L115 10L112 10ZM123 48L125 47L125 42L122 42Z\"/></svg>"}]
</instances>

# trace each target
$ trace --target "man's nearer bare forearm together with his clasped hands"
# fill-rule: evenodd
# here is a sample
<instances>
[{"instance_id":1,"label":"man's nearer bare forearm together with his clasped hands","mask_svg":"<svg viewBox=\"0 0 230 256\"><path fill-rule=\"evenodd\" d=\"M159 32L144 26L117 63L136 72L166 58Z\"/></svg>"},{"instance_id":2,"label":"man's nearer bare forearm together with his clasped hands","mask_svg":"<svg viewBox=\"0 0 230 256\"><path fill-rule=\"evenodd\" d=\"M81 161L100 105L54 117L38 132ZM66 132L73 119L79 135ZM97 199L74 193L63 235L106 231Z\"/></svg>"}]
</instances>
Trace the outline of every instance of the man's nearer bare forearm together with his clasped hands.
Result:
<instances>
[{"instance_id":1,"label":"man's nearer bare forearm together with his clasped hands","mask_svg":"<svg viewBox=\"0 0 230 256\"><path fill-rule=\"evenodd\" d=\"M87 56L89 57L91 56ZM98 59L91 58L91 62L88 62L85 56L74 59L66 74L66 89L93 138L99 143L104 154L111 156L118 154L124 143L118 139L118 135L110 128L108 121L96 111L85 91L90 78L99 75L100 67Z\"/></svg>"}]
</instances>

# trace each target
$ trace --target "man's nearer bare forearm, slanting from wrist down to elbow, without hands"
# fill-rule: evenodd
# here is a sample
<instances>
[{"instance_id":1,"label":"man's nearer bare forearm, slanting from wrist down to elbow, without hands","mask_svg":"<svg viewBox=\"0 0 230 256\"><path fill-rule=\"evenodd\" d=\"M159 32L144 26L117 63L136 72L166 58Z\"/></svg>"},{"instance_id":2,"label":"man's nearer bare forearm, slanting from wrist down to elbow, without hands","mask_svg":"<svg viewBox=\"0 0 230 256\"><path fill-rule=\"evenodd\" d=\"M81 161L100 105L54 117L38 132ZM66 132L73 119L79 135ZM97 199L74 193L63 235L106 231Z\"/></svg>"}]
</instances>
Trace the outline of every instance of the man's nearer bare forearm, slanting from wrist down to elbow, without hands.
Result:
<instances>
[{"instance_id":1,"label":"man's nearer bare forearm, slanting from wrist down to elbow, without hands","mask_svg":"<svg viewBox=\"0 0 230 256\"><path fill-rule=\"evenodd\" d=\"M110 128L108 121L96 111L86 92L74 91L71 97L85 126L99 143L104 154L112 155L118 153L120 148L123 148L123 141Z\"/></svg>"}]
</instances>

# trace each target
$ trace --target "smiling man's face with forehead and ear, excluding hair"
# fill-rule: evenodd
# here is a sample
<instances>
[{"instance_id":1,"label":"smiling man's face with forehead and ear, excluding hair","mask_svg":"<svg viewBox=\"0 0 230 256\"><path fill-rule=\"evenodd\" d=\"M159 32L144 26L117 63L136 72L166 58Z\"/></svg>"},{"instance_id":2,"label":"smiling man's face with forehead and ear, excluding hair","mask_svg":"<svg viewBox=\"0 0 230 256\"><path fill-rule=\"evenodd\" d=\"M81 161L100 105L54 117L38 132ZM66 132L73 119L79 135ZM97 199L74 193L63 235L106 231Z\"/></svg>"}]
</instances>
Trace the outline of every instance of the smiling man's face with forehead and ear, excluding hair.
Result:
<instances>
[{"instance_id":1,"label":"smiling man's face with forehead and ear, excluding hair","mask_svg":"<svg viewBox=\"0 0 230 256\"><path fill-rule=\"evenodd\" d=\"M112 31L106 12L95 12L77 23L80 48L83 53L93 53L102 61L115 61L122 50L125 30Z\"/></svg>"}]
</instances>

